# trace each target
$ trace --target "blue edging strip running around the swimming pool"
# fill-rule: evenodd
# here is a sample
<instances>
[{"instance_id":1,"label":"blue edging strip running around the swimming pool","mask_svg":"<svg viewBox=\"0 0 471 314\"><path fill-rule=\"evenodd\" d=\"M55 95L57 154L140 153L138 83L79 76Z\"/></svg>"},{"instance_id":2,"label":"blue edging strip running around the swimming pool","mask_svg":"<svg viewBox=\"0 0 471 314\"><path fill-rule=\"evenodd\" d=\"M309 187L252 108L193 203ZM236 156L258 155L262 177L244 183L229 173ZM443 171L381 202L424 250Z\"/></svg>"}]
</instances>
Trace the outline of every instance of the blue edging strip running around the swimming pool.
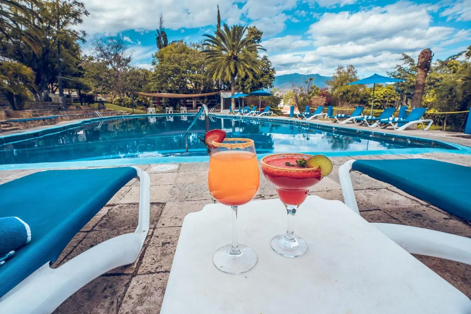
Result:
<instances>
[{"instance_id":1,"label":"blue edging strip running around the swimming pool","mask_svg":"<svg viewBox=\"0 0 471 314\"><path fill-rule=\"evenodd\" d=\"M15 143L22 141L31 134L44 133L36 138L61 132L65 129L73 129L80 127L84 124L93 123L96 121L114 120L114 119L131 119L131 118L148 118L153 116L195 116L196 113L161 113L161 114L133 114L133 115L117 115L100 118L83 119L81 121L74 121L71 123L65 123L60 126L54 126L50 128L25 131L17 134L8 134L0 136L0 145L9 143ZM457 154L471 154L471 147L459 145L455 143L433 140L424 137L407 136L402 134L374 131L369 129L352 129L347 127L341 127L338 124L327 125L316 123L315 121L304 121L304 120L288 120L272 117L258 117L258 116L237 116L233 114L210 114L212 117L217 118L231 118L235 120L252 120L252 121L272 121L277 123L284 123L290 125L307 125L314 127L315 129L325 130L330 133L337 133L339 130L346 134L363 134L369 135L370 137L390 137L393 141L396 138L400 138L403 141L418 141L421 143L429 143L450 147L446 148L397 148L390 150L381 151L340 151L340 152L321 152L328 157L345 157L345 156L365 156L365 155L402 155L402 154L421 154L421 153L457 153ZM47 132L47 133L46 133ZM17 137L17 139L16 139ZM14 140L12 140L14 138ZM31 137L29 137L31 138ZM16 140L15 140L16 139ZM319 152L299 152L299 153L319 153ZM260 159L270 153L257 154L257 158ZM155 163L184 163L184 162L206 162L209 161L209 156L187 156L187 157L139 157L139 158L117 158L117 159L102 159L94 161L61 161L61 162L41 162L41 163L24 163L24 164L5 164L0 165L0 170L16 170L16 169L47 169L47 168L81 168L81 167L106 167L106 166L125 166L125 165L141 165L141 164L155 164Z\"/></svg>"}]
</instances>

